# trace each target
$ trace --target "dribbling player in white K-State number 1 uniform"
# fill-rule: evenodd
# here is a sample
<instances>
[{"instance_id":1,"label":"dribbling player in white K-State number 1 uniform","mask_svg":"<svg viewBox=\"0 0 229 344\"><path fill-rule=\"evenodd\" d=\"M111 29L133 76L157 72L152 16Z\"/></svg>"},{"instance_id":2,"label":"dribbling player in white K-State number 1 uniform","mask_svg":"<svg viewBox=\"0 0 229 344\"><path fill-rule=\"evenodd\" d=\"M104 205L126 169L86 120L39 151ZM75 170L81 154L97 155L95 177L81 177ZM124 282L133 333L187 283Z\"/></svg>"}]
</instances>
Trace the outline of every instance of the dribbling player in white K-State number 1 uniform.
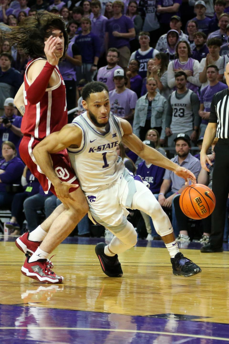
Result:
<instances>
[{"instance_id":1,"label":"dribbling player in white K-State number 1 uniform","mask_svg":"<svg viewBox=\"0 0 229 344\"><path fill-rule=\"evenodd\" d=\"M126 208L139 209L151 216L154 227L171 256L174 275L188 277L201 272L201 268L179 252L168 216L146 186L148 183L142 182L140 176L134 177L125 169L121 158L117 156L116 147L122 139L130 150L151 164L171 170L186 181L190 178L192 182L196 182L194 174L142 143L133 134L128 121L110 112L108 88L105 84L88 83L82 90L82 98L86 111L74 123L42 140L33 154L50 182L57 190L61 190L50 154L68 149L71 165L79 176L88 201L91 220L114 234L109 245L100 243L95 247L103 272L109 277L121 277L123 271L117 254L137 243L137 233L127 221ZM68 199L69 193L65 190L63 187L57 196Z\"/></svg>"}]
</instances>

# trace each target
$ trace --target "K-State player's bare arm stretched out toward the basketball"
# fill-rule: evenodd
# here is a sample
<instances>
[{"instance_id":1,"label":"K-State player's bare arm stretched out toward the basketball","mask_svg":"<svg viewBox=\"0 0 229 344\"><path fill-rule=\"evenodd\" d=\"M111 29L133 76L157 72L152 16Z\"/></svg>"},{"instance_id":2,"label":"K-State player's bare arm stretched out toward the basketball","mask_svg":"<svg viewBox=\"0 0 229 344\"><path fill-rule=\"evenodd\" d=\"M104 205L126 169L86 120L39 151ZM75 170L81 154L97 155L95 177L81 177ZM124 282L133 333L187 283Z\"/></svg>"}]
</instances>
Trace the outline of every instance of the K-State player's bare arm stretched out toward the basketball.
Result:
<instances>
[{"instance_id":1,"label":"K-State player's bare arm stretched out toward the basketball","mask_svg":"<svg viewBox=\"0 0 229 344\"><path fill-rule=\"evenodd\" d=\"M136 135L134 135L129 122L123 119L120 119L120 121L124 132L122 142L130 150L135 152L142 159L150 161L151 164L171 170L179 177L184 178L185 181L190 179L193 183L196 183L196 178L191 171L178 166L168 158L164 157L164 155L159 153L156 149L144 144Z\"/></svg>"}]
</instances>

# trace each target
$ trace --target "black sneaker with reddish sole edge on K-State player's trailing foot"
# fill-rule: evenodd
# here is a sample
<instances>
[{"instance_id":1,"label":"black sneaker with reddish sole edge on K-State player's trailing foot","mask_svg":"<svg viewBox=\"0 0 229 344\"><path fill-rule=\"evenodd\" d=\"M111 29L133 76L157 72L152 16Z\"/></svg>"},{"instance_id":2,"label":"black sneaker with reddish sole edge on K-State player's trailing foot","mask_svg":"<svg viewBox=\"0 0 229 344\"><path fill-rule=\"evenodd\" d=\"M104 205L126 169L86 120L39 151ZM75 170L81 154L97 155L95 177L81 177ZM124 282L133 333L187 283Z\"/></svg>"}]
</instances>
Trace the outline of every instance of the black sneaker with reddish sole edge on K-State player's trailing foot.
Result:
<instances>
[{"instance_id":1,"label":"black sneaker with reddish sole edge on K-State player's trailing foot","mask_svg":"<svg viewBox=\"0 0 229 344\"><path fill-rule=\"evenodd\" d=\"M123 270L118 261L118 255L115 255L114 257L106 256L104 253L105 246L107 245L104 243L99 243L95 246L95 253L99 258L103 272L109 277L122 277Z\"/></svg>"}]
</instances>

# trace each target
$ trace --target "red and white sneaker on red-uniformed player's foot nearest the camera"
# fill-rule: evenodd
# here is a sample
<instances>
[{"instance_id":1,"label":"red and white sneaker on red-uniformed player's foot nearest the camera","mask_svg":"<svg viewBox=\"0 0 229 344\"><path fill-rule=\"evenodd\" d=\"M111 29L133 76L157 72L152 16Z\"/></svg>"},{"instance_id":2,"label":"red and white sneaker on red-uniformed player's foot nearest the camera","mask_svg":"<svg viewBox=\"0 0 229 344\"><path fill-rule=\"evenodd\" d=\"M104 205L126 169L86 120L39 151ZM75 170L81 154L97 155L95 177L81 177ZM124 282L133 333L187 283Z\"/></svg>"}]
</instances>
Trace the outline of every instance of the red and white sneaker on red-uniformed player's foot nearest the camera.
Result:
<instances>
[{"instance_id":1,"label":"red and white sneaker on red-uniformed player's foot nearest the camera","mask_svg":"<svg viewBox=\"0 0 229 344\"><path fill-rule=\"evenodd\" d=\"M32 263L28 262L29 259L29 256L26 257L24 265L21 268L23 275L48 284L62 283L64 281L64 277L57 276L54 271L51 271L53 265L48 264L46 259L39 259Z\"/></svg>"}]
</instances>

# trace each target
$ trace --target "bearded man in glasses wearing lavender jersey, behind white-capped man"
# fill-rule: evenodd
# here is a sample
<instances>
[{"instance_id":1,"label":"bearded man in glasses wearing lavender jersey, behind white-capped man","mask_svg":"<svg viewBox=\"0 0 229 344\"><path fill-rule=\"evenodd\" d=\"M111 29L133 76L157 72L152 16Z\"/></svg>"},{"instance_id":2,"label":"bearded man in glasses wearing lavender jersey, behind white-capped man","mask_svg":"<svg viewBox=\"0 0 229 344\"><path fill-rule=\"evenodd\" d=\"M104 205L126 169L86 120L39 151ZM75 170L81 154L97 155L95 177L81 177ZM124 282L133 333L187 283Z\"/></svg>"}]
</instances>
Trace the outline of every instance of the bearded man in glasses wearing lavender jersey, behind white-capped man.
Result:
<instances>
[{"instance_id":1,"label":"bearded man in glasses wearing lavender jersey, behind white-capped man","mask_svg":"<svg viewBox=\"0 0 229 344\"><path fill-rule=\"evenodd\" d=\"M104 67L99 68L97 73L97 81L101 81L102 83L106 84L109 91L115 89L114 83L114 71L116 69L120 69L121 67L118 65L119 60L119 51L116 48L110 48L107 51L106 61L107 65Z\"/></svg>"}]
</instances>

